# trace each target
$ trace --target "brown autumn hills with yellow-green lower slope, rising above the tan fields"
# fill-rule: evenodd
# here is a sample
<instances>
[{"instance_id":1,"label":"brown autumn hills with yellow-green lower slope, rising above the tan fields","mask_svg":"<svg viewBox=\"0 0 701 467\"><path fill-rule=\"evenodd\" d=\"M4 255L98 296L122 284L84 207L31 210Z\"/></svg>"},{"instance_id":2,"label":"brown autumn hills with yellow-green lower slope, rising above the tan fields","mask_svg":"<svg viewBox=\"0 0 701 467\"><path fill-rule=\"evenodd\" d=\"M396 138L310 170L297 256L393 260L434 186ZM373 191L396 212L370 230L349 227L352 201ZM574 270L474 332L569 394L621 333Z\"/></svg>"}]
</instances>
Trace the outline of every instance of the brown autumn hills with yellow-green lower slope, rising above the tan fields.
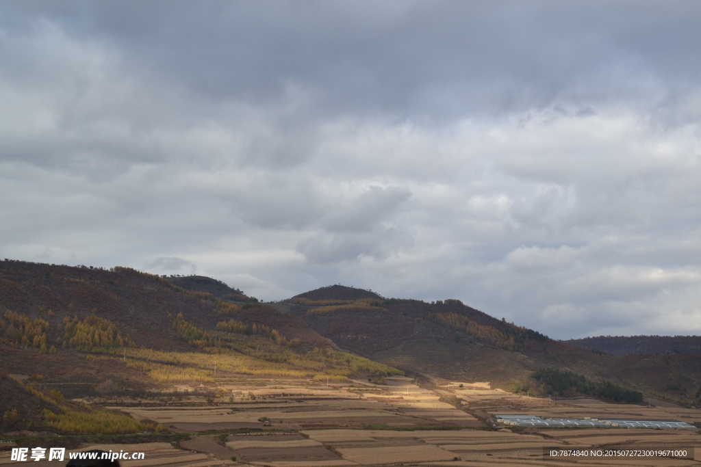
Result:
<instances>
[{"instance_id":1,"label":"brown autumn hills with yellow-green lower slope, rising above the tan fields","mask_svg":"<svg viewBox=\"0 0 701 467\"><path fill-rule=\"evenodd\" d=\"M128 267L0 261L0 347L2 370L48 375L73 394L108 382L125 389L209 381L212 355L222 370L247 375L344 379L402 370L517 391L537 385L538 371L558 370L586 378L580 394L618 387L601 386L609 382L680 403L698 403L701 393L698 354L613 356L460 300L387 299L335 285L266 304L214 279ZM107 358L100 372L81 363L83 354Z\"/></svg>"}]
</instances>

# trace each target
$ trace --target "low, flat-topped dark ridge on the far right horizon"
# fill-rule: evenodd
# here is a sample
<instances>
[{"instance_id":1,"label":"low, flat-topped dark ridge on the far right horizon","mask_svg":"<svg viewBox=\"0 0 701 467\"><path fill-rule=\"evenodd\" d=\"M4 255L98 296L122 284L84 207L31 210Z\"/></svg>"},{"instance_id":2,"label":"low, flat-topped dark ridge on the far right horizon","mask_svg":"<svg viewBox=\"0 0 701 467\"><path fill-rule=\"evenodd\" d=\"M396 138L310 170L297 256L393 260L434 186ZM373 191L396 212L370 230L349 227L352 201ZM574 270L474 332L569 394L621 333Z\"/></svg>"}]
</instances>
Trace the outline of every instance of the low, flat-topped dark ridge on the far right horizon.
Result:
<instances>
[{"instance_id":1,"label":"low, flat-topped dark ridge on the far right horizon","mask_svg":"<svg viewBox=\"0 0 701 467\"><path fill-rule=\"evenodd\" d=\"M562 342L615 356L627 354L701 354L701 336L697 335L633 335L629 337L601 335Z\"/></svg>"}]
</instances>

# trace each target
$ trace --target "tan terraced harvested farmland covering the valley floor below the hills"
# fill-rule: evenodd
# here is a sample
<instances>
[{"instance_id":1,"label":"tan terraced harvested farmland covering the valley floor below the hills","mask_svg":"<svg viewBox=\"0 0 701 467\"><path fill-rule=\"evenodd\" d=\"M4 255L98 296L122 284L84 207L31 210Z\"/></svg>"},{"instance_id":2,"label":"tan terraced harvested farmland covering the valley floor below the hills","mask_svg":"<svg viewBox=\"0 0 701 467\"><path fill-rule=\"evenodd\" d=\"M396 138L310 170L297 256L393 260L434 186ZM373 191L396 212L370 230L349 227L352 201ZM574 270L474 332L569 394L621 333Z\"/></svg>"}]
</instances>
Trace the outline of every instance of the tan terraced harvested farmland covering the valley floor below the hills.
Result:
<instances>
[{"instance_id":1,"label":"tan terraced harvested farmland covering the valley floor below the hills","mask_svg":"<svg viewBox=\"0 0 701 467\"><path fill-rule=\"evenodd\" d=\"M386 384L311 382L308 379L230 377L208 387L181 385L147 399L103 397L91 402L149 419L179 443L84 445L146 452L123 467L334 467L334 466L696 466L701 435L690 430L625 428L523 429L494 425L495 414L548 418L625 418L701 421L682 407L610 405L592 400L529 398L485 384L451 382L430 389L406 377ZM175 392L177 390L177 392ZM49 446L46 446L49 447ZM555 449L688 449L691 459L547 459ZM236 461L233 461L233 458ZM701 459L701 449L696 459ZM10 452L0 464L15 467ZM46 464L46 465L45 465ZM57 462L32 462L55 467Z\"/></svg>"}]
</instances>

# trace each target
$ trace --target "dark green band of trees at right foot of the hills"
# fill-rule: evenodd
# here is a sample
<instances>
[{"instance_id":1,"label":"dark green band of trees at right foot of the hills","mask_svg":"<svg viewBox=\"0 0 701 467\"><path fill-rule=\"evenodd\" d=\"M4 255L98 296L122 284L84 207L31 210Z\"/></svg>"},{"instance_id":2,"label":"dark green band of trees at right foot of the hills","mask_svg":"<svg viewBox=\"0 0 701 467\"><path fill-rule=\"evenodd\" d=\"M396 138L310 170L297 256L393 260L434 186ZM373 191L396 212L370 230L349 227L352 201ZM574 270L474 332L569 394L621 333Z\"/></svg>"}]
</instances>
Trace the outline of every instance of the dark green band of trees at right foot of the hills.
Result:
<instances>
[{"instance_id":1,"label":"dark green band of trees at right foot of the hills","mask_svg":"<svg viewBox=\"0 0 701 467\"><path fill-rule=\"evenodd\" d=\"M638 404L643 402L643 393L626 389L610 381L594 382L584 375L571 371L544 368L533 373L533 379L543 384L545 393L559 396L575 396L576 393L594 396L613 402Z\"/></svg>"}]
</instances>

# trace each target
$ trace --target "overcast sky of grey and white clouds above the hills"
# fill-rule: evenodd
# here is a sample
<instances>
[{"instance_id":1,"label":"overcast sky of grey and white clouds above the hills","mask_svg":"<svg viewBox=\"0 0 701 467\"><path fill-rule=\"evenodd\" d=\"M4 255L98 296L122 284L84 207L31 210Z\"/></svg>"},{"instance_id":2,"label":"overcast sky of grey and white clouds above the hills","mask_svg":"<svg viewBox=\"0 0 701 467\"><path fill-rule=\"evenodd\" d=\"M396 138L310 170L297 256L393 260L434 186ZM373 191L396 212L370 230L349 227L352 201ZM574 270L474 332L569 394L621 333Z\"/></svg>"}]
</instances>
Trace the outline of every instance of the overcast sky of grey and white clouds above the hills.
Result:
<instances>
[{"instance_id":1,"label":"overcast sky of grey and white clouds above the hills","mask_svg":"<svg viewBox=\"0 0 701 467\"><path fill-rule=\"evenodd\" d=\"M698 1L3 1L0 256L701 334Z\"/></svg>"}]
</instances>

